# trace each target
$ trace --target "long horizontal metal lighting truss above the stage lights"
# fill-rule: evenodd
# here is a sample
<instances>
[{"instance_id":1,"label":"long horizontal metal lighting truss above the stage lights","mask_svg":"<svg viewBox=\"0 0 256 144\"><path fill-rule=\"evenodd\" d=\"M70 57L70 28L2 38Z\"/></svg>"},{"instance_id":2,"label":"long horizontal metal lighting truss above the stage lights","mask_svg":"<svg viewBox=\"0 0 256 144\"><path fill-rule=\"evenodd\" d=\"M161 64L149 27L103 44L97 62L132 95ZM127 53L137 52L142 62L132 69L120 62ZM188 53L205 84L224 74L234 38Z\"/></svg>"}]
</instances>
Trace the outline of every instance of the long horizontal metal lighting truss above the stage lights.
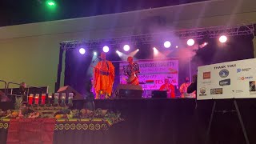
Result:
<instances>
[{"instance_id":1,"label":"long horizontal metal lighting truss above the stage lights","mask_svg":"<svg viewBox=\"0 0 256 144\"><path fill-rule=\"evenodd\" d=\"M150 44L154 43L156 38L161 38L163 34L174 34L178 38L186 39L186 38L194 38L194 39L202 39L202 38L217 38L221 34L225 34L226 36L238 36L238 35L250 35L254 34L256 28L256 24L244 25L244 26L214 26L208 28L198 28L191 30L174 30L166 33L158 33L158 34L141 34L141 35L131 35L126 37L118 37L118 38L107 38L107 39L93 39L93 40L75 40L75 41L64 41L61 42L61 47L63 50L73 50L80 46L86 46L88 48L94 48L98 46L102 46L106 44L107 46L120 46L124 42L129 42L130 45L137 44Z\"/></svg>"}]
</instances>

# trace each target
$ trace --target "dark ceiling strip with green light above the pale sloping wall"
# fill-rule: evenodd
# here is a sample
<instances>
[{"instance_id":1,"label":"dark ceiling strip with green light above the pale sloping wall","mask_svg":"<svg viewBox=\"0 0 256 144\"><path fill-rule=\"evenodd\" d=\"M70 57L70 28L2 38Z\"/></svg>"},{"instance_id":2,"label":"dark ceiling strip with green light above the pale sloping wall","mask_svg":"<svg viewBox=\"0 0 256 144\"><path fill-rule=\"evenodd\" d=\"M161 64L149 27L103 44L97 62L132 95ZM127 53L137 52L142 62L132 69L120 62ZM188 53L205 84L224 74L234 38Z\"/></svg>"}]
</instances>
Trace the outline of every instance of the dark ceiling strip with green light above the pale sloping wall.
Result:
<instances>
[{"instance_id":1,"label":"dark ceiling strip with green light above the pale sloping wall","mask_svg":"<svg viewBox=\"0 0 256 144\"><path fill-rule=\"evenodd\" d=\"M55 9L46 0L1 0L0 26L114 14L206 0L55 0Z\"/></svg>"}]
</instances>

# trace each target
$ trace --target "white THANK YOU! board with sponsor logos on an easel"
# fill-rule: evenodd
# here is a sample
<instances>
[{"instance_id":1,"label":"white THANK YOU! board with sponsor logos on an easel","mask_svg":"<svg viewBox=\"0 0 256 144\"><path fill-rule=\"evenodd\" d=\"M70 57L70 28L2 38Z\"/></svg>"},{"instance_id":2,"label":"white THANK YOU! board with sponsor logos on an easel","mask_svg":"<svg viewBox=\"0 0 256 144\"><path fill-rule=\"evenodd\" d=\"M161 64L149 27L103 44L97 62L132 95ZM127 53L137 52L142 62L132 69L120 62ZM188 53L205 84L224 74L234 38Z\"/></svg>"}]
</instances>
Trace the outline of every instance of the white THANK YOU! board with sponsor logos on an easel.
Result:
<instances>
[{"instance_id":1,"label":"white THANK YOU! board with sponsor logos on an easel","mask_svg":"<svg viewBox=\"0 0 256 144\"><path fill-rule=\"evenodd\" d=\"M256 58L198 67L197 98L256 98Z\"/></svg>"}]
</instances>

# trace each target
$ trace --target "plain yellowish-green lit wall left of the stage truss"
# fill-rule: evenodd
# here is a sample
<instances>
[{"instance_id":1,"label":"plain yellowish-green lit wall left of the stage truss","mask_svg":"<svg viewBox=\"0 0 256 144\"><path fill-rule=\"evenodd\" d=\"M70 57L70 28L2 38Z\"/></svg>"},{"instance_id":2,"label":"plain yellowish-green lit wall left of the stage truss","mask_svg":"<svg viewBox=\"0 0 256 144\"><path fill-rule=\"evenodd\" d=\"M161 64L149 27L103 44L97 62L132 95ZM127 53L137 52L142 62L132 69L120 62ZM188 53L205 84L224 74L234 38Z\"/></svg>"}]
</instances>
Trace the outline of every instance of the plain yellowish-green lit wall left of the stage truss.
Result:
<instances>
[{"instance_id":1,"label":"plain yellowish-green lit wall left of the stage truss","mask_svg":"<svg viewBox=\"0 0 256 144\"><path fill-rule=\"evenodd\" d=\"M53 91L58 66L58 42L61 39L47 35L1 40L0 79L26 82L30 86L50 86L50 92ZM3 87L2 83L0 87Z\"/></svg>"}]
</instances>

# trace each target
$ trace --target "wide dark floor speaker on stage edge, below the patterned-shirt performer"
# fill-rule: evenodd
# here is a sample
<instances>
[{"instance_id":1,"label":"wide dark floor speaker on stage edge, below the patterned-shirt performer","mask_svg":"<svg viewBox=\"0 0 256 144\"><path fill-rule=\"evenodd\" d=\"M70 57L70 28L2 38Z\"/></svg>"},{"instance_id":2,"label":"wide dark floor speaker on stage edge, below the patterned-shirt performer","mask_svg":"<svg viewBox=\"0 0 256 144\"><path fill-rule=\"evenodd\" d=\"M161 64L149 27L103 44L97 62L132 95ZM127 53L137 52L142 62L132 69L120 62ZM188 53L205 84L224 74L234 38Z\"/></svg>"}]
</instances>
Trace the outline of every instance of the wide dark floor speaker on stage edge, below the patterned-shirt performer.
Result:
<instances>
[{"instance_id":1,"label":"wide dark floor speaker on stage edge, below the patterned-shirt performer","mask_svg":"<svg viewBox=\"0 0 256 144\"><path fill-rule=\"evenodd\" d=\"M114 92L116 98L142 98L142 86L138 85L118 85Z\"/></svg>"}]
</instances>

